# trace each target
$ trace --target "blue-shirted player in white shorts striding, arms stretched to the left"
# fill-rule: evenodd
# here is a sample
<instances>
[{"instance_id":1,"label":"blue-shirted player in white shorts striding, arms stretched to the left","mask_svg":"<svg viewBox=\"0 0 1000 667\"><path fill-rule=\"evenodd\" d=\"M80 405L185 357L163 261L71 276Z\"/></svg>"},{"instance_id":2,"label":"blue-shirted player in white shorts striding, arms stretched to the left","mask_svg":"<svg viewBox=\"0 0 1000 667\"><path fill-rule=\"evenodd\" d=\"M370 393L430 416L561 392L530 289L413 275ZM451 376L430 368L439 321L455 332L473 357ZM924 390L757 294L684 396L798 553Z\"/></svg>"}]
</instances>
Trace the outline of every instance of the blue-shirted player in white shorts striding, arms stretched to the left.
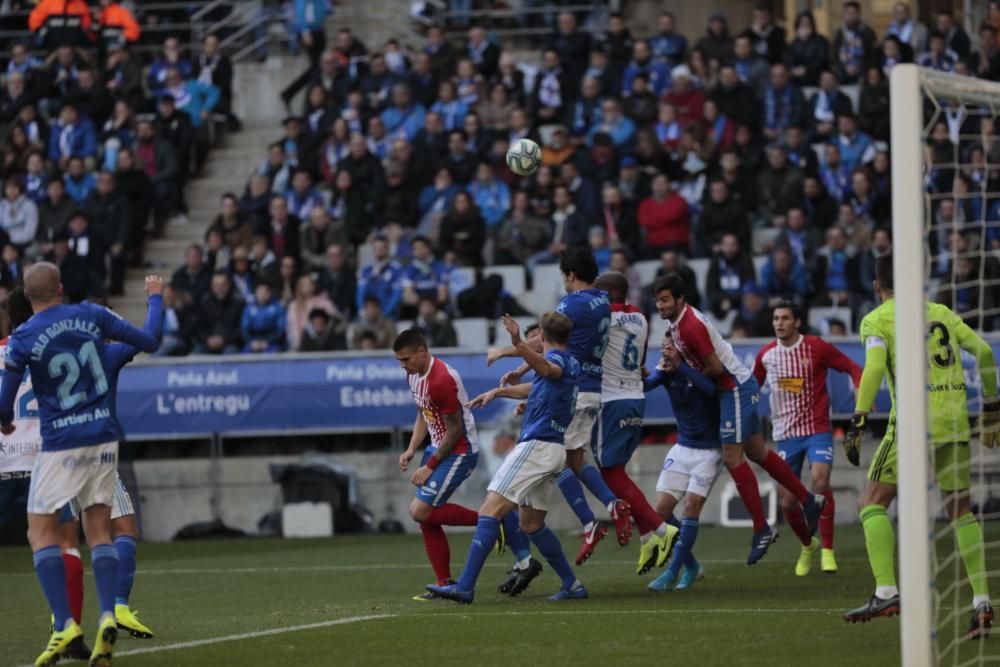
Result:
<instances>
[{"instance_id":1,"label":"blue-shirted player in white shorts striding, arms stretched to the left","mask_svg":"<svg viewBox=\"0 0 1000 667\"><path fill-rule=\"evenodd\" d=\"M503 325L518 354L535 372L535 379L531 384L491 389L470 401L469 407L482 407L495 398L527 399L521 437L490 482L462 576L455 584L429 585L427 590L471 603L483 563L500 535L501 520L520 508L521 529L562 580L562 588L549 599L580 600L587 597L587 589L573 574L559 538L545 525L554 491L552 481L566 461L563 442L573 419L580 374L580 364L566 352L573 324L559 313L543 315L541 354L521 338L520 327L510 316L504 316Z\"/></svg>"}]
</instances>

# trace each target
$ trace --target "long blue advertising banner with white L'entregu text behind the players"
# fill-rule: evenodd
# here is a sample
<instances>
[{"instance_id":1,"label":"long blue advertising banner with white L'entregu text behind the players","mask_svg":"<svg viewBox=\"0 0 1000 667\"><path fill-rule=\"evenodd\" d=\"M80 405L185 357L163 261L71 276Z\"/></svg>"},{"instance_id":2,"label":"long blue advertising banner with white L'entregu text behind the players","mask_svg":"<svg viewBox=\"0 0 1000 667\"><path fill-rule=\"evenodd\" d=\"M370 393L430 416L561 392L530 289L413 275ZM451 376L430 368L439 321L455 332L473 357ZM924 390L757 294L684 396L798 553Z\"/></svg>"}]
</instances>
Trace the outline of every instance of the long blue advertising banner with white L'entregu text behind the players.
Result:
<instances>
[{"instance_id":1,"label":"long blue advertising banner with white L'entregu text behind the players","mask_svg":"<svg viewBox=\"0 0 1000 667\"><path fill-rule=\"evenodd\" d=\"M764 342L747 341L735 344L734 349L751 365ZM838 347L863 363L859 343ZM994 344L994 351L1000 352L1000 345ZM504 360L487 368L484 352L444 352L441 358L462 376L470 397L496 386L500 376L515 366L513 360ZM971 358L963 361L970 392L977 392L979 377L971 372L974 362ZM656 364L652 350L647 363L650 368ZM831 372L829 390L834 414L850 415L854 410L850 378ZM884 387L876 405L879 413L889 410ZM511 403L497 401L478 411L476 418L485 423L510 409ZM766 396L761 409L765 416L769 414ZM388 431L412 426L415 414L405 374L388 354L137 362L123 371L118 388L118 416L131 439ZM672 419L666 392L650 394L647 423L669 423Z\"/></svg>"}]
</instances>

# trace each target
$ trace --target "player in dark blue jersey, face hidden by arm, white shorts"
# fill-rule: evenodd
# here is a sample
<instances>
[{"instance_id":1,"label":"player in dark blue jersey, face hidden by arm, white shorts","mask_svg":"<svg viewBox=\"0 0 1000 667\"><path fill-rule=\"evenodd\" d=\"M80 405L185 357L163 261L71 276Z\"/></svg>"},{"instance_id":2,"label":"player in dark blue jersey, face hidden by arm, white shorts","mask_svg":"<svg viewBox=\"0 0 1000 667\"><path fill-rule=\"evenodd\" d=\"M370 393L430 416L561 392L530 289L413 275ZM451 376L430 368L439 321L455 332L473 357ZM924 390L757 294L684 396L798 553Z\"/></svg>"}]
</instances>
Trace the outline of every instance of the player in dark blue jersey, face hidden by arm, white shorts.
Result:
<instances>
[{"instance_id":1,"label":"player in dark blue jersey, face hidden by arm, white shorts","mask_svg":"<svg viewBox=\"0 0 1000 667\"><path fill-rule=\"evenodd\" d=\"M715 384L681 360L669 336L663 339L659 365L643 382L647 392L657 387L666 388L670 396L677 420L677 444L667 452L656 482L656 511L666 520L673 519L674 508L684 498L684 518L673 558L663 574L649 583L651 591L668 591L690 588L703 576L692 550L705 499L722 468L722 444Z\"/></svg>"}]
</instances>

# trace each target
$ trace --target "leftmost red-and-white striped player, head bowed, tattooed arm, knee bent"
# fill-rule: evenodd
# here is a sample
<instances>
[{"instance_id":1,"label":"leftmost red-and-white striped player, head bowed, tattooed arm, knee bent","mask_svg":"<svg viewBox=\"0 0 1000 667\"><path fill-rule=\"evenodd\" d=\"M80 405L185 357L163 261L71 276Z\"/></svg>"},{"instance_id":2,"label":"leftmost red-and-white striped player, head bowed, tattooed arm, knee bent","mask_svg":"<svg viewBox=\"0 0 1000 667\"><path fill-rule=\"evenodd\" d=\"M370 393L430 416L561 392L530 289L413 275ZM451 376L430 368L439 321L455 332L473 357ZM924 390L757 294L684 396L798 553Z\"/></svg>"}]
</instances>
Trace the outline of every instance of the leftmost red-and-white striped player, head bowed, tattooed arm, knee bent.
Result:
<instances>
[{"instance_id":1,"label":"leftmost red-and-white striped player, head bowed, tattooed arm, knee bent","mask_svg":"<svg viewBox=\"0 0 1000 667\"><path fill-rule=\"evenodd\" d=\"M442 526L475 526L479 519L475 510L448 502L479 461L476 422L465 408L469 395L462 378L454 368L431 355L419 331L408 329L399 334L392 349L406 371L417 404L410 446L399 456L400 469L409 467L417 448L430 436L420 468L410 478L417 487L410 502L410 516L420 524L427 557L438 585L443 586L454 582L451 549ZM414 600L436 597L423 593Z\"/></svg>"}]
</instances>

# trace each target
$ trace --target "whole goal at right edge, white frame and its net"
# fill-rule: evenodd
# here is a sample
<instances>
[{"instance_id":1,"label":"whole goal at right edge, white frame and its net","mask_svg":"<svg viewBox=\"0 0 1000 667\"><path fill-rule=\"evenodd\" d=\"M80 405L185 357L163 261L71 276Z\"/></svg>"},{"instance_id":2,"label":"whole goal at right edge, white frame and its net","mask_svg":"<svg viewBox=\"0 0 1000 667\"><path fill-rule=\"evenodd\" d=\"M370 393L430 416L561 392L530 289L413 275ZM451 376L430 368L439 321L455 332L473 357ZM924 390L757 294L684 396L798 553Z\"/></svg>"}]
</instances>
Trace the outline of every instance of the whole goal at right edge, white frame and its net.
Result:
<instances>
[{"instance_id":1,"label":"whole goal at right edge, white frame and its net","mask_svg":"<svg viewBox=\"0 0 1000 667\"><path fill-rule=\"evenodd\" d=\"M949 306L1000 349L1000 85L901 65L891 105L902 664L1000 663L1000 618L993 639L966 638L974 589L1000 592L1000 449L980 446L975 358L923 306ZM969 492L944 491L956 487Z\"/></svg>"}]
</instances>

